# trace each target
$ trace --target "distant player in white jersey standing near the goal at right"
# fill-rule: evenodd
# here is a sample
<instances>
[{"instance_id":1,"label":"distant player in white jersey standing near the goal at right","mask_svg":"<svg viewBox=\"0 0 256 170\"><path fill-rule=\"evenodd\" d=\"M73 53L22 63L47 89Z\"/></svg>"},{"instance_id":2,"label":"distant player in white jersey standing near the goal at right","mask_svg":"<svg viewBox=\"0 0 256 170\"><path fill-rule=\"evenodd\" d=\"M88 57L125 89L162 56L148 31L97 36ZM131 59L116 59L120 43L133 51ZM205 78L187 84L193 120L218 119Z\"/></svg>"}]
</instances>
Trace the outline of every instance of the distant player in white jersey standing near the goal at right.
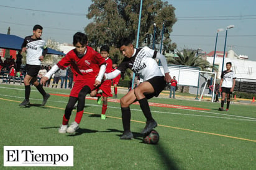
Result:
<instances>
[{"instance_id":1,"label":"distant player in white jersey standing near the goal at right","mask_svg":"<svg viewBox=\"0 0 256 170\"><path fill-rule=\"evenodd\" d=\"M231 62L226 63L227 70L224 70L221 74L221 82L219 86L219 91L221 92L221 108L219 111L224 111L224 101L227 95L227 108L226 111L229 111L229 103L231 102L231 93L234 91L235 87L235 73L231 70Z\"/></svg>"}]
</instances>

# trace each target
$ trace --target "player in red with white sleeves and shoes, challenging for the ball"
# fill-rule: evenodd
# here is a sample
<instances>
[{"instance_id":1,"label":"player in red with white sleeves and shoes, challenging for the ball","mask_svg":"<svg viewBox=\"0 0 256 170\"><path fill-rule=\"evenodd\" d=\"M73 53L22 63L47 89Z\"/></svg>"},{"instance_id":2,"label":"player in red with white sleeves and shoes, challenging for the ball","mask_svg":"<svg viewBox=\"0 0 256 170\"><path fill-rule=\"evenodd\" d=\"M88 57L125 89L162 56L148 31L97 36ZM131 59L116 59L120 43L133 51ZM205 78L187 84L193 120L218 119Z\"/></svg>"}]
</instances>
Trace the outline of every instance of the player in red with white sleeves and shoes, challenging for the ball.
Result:
<instances>
[{"instance_id":1,"label":"player in red with white sleeves and shoes, challenging for the ball","mask_svg":"<svg viewBox=\"0 0 256 170\"><path fill-rule=\"evenodd\" d=\"M71 66L71 69L77 74L74 86L70 92L68 104L66 104L62 125L60 125L60 129L58 130L61 134L65 134L66 132L71 134L79 129L83 109L85 107L85 96L101 84L106 70L105 59L101 54L94 51L93 48L87 46L87 41L88 38L84 33L75 33L73 36L75 49L68 52L66 56L53 66L41 79L41 83L45 84L54 72L58 69L65 69L68 66ZM68 121L76 101L78 101L78 106L75 122L72 122L68 127Z\"/></svg>"}]
</instances>

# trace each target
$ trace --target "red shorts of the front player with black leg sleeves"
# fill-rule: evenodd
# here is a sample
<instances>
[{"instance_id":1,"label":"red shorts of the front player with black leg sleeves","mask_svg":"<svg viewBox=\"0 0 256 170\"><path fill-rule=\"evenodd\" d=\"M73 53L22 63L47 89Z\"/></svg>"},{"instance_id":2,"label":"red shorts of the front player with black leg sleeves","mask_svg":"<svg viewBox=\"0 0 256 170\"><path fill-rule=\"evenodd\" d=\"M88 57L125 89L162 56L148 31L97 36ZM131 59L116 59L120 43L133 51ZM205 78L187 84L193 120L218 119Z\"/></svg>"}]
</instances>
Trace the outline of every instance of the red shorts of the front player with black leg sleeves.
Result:
<instances>
[{"instance_id":1,"label":"red shorts of the front player with black leg sleeves","mask_svg":"<svg viewBox=\"0 0 256 170\"><path fill-rule=\"evenodd\" d=\"M74 86L70 92L70 96L73 96L75 98L78 98L78 94L82 90L83 87L86 85L91 88L91 91L95 89L94 87L95 79L87 79L87 80L76 80L74 83Z\"/></svg>"}]
</instances>

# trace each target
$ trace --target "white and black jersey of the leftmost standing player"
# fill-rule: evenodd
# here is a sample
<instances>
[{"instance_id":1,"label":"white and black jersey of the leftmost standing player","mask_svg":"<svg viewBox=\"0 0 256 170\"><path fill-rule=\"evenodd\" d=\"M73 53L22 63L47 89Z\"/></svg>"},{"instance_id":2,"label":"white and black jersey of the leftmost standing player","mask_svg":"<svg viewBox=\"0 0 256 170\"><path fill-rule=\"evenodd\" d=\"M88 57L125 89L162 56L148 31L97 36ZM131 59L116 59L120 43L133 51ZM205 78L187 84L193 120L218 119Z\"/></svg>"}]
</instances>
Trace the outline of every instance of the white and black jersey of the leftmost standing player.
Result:
<instances>
[{"instance_id":1,"label":"white and black jersey of the leftmost standing player","mask_svg":"<svg viewBox=\"0 0 256 170\"><path fill-rule=\"evenodd\" d=\"M40 66L39 57L43 55L43 49L47 48L45 40L32 39L31 36L26 36L22 47L27 49L26 64Z\"/></svg>"}]
</instances>

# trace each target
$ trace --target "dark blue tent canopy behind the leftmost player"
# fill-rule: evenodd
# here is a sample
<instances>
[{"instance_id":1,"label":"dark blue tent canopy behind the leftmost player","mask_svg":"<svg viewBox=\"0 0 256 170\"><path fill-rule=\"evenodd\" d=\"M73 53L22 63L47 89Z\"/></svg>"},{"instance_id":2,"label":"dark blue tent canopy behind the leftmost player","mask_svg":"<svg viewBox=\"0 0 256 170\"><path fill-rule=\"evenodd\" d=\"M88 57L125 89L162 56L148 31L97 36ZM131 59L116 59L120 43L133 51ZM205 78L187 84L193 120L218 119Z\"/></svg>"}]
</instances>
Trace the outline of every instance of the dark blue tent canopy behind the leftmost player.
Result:
<instances>
[{"instance_id":1,"label":"dark blue tent canopy behind the leftmost player","mask_svg":"<svg viewBox=\"0 0 256 170\"><path fill-rule=\"evenodd\" d=\"M19 36L0 33L0 48L13 49L18 51L21 50L21 45L23 41L24 38L21 38ZM51 48L48 48L47 54L65 56L64 53Z\"/></svg>"}]
</instances>

